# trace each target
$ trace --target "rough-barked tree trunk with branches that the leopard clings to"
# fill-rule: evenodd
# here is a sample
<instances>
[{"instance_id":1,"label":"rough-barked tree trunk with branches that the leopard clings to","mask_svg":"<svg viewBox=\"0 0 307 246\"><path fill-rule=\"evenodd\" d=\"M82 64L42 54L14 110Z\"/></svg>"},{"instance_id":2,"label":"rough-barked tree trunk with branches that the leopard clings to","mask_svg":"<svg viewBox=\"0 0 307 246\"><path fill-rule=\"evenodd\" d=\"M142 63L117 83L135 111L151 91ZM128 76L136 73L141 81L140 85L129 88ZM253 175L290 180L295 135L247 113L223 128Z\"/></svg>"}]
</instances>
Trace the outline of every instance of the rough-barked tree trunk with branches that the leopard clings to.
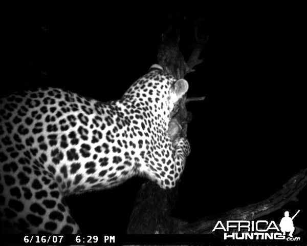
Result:
<instances>
[{"instance_id":1,"label":"rough-barked tree trunk with branches that the leopard clings to","mask_svg":"<svg viewBox=\"0 0 307 246\"><path fill-rule=\"evenodd\" d=\"M179 25L178 25L179 24ZM176 23L171 23L162 35L162 44L158 52L158 62L175 78L193 72L194 66L202 63L199 59L201 51L208 40L208 37L198 37L198 26L194 27L195 45L186 62L179 50L180 34L182 22L176 19ZM172 119L177 120L181 125L181 136L186 136L189 113L185 104L189 100L204 98L183 98L179 107L173 113ZM187 164L188 165L188 164ZM297 194L307 184L307 169L302 170L293 176L281 190L264 201L260 201L243 208L236 208L217 216L207 216L199 221L188 223L177 218L172 218L171 210L177 200L178 186L171 190L163 190L153 182L145 183L138 192L133 212L127 228L129 234L171 234L171 233L202 233L212 232L218 220L226 221L229 218L253 220L270 214L280 209L289 201L296 201Z\"/></svg>"}]
</instances>

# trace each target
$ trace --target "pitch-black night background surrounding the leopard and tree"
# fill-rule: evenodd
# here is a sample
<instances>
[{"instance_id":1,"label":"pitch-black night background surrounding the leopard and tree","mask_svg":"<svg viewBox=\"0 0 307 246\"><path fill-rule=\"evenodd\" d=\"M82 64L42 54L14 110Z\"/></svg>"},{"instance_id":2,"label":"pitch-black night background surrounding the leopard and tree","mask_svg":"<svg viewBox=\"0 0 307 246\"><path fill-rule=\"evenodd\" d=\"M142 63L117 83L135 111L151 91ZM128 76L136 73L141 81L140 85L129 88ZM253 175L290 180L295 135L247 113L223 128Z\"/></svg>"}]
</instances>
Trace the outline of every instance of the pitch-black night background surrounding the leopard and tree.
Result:
<instances>
[{"instance_id":1,"label":"pitch-black night background surrounding the leopard and tree","mask_svg":"<svg viewBox=\"0 0 307 246\"><path fill-rule=\"evenodd\" d=\"M305 27L299 7L221 6L186 12L162 6L155 11L101 8L41 8L8 15L1 94L52 86L101 101L119 99L157 63L169 17L199 16L209 40L201 54L204 62L185 79L188 96L206 99L187 105L193 115L187 133L191 154L173 216L193 221L258 202L305 167ZM186 24L181 39L186 58L193 41L190 28ZM81 231L124 233L145 181L133 178L112 190L69 197ZM295 226L306 230L306 192L298 196L300 202L267 218L279 220L284 209L290 215L299 209Z\"/></svg>"}]
</instances>

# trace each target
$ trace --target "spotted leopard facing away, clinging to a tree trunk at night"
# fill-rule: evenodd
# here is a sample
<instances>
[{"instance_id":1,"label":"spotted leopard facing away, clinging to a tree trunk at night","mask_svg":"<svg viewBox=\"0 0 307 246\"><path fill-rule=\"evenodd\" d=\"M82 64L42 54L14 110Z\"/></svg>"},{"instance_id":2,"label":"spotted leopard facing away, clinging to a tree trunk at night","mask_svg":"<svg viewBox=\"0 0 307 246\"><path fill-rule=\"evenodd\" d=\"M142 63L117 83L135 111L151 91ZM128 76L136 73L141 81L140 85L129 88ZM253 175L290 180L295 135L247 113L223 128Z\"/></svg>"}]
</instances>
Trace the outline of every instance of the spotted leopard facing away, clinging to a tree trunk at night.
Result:
<instances>
[{"instance_id":1,"label":"spotted leopard facing away, clinging to a tree trunk at night","mask_svg":"<svg viewBox=\"0 0 307 246\"><path fill-rule=\"evenodd\" d=\"M38 88L0 99L0 221L12 233L81 233L65 198L142 176L175 187L190 153L168 133L188 82L152 65L118 100Z\"/></svg>"}]
</instances>

